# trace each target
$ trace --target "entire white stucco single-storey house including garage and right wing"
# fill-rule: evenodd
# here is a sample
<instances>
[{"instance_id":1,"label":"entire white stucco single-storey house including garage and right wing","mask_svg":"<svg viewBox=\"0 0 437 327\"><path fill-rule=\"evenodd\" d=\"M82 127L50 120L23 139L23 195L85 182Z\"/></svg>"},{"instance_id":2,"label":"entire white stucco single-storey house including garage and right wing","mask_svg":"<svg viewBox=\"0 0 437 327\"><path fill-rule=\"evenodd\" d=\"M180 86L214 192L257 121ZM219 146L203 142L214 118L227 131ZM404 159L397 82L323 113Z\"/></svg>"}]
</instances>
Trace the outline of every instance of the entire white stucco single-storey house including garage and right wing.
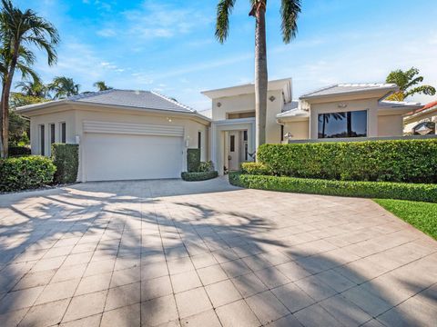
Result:
<instances>
[{"instance_id":1,"label":"entire white stucco single-storey house including garage and right wing","mask_svg":"<svg viewBox=\"0 0 437 327\"><path fill-rule=\"evenodd\" d=\"M270 81L267 143L401 136L403 114L422 107L388 102L394 84L336 84L292 100L291 79ZM30 118L32 154L79 144L78 181L178 178L187 149L199 148L220 174L255 156L255 88L202 92L210 117L164 95L108 90L18 108Z\"/></svg>"}]
</instances>

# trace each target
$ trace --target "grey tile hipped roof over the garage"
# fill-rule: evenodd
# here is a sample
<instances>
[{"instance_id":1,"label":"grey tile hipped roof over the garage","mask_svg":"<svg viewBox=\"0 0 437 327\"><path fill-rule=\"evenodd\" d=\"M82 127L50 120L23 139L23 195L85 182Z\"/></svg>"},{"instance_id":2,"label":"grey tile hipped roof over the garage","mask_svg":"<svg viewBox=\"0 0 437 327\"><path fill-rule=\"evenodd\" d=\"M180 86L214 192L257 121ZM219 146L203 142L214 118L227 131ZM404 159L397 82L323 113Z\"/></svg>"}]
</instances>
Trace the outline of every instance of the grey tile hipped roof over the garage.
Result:
<instances>
[{"instance_id":1,"label":"grey tile hipped roof over the garage","mask_svg":"<svg viewBox=\"0 0 437 327\"><path fill-rule=\"evenodd\" d=\"M153 91L133 90L107 90L89 94L78 94L66 98L66 101L87 104L109 104L141 109L157 109L195 113L196 111L187 105L179 104L178 101Z\"/></svg>"}]
</instances>

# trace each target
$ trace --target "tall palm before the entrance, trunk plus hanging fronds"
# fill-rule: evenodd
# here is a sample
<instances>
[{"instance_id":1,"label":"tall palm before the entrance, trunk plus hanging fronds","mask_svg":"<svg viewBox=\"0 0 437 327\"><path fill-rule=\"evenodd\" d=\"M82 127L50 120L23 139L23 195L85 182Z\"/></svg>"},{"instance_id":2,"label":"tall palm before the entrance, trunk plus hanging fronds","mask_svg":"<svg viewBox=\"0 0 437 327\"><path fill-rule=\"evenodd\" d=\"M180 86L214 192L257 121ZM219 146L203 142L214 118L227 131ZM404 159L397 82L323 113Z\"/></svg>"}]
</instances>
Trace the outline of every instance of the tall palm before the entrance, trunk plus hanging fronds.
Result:
<instances>
[{"instance_id":1,"label":"tall palm before the entrance, trunk plus hanging fronds","mask_svg":"<svg viewBox=\"0 0 437 327\"><path fill-rule=\"evenodd\" d=\"M216 37L221 44L229 34L229 15L236 0L219 0L217 6ZM267 48L266 48L266 8L267 0L250 0L249 15L255 17L255 112L256 147L266 143L267 113ZM298 31L297 20L300 14L300 0L281 0L282 39L290 43Z\"/></svg>"}]
</instances>

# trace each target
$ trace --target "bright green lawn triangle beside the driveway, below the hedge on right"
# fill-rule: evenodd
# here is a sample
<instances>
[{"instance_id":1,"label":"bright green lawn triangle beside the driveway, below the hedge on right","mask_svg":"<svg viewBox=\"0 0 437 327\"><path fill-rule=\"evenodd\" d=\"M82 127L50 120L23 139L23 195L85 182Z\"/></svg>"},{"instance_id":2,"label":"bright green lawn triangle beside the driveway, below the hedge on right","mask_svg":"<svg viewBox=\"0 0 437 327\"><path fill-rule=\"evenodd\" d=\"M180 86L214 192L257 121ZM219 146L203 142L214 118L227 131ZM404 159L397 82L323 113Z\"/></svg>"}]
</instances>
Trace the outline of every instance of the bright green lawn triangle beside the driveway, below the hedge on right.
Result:
<instances>
[{"instance_id":1,"label":"bright green lawn triangle beside the driveway, below the hedge on right","mask_svg":"<svg viewBox=\"0 0 437 327\"><path fill-rule=\"evenodd\" d=\"M437 203L376 199L376 203L401 220L437 240Z\"/></svg>"}]
</instances>

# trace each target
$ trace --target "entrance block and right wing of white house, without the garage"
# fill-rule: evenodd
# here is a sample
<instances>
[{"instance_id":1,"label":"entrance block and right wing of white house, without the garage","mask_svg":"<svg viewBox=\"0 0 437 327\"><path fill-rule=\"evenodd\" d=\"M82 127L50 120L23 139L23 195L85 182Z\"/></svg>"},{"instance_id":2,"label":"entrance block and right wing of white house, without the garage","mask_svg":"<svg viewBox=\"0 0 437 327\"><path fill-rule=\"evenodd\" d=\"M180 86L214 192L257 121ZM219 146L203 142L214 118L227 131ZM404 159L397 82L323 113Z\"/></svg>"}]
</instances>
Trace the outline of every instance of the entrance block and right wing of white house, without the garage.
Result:
<instances>
[{"instance_id":1,"label":"entrance block and right wing of white house, without the garage","mask_svg":"<svg viewBox=\"0 0 437 327\"><path fill-rule=\"evenodd\" d=\"M291 79L269 82L267 143L402 135L402 115L418 103L384 99L395 84L336 84L292 101ZM203 92L212 100L211 159L223 173L253 160L255 88L245 84Z\"/></svg>"}]
</instances>

